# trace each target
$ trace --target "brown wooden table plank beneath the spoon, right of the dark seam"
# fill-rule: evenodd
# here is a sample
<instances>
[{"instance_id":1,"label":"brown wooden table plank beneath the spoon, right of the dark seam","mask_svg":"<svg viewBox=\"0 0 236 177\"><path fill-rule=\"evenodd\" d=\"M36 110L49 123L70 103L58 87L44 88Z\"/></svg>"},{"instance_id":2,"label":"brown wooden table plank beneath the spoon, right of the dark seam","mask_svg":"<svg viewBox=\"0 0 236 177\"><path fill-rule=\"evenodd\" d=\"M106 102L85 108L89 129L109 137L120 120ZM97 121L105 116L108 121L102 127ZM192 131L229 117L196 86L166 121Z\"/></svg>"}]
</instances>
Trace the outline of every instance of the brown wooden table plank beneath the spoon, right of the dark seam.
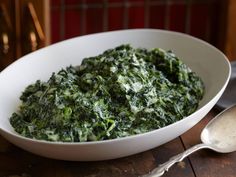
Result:
<instances>
[{"instance_id":1,"label":"brown wooden table plank beneath the spoon, right of the dark seam","mask_svg":"<svg viewBox=\"0 0 236 177\"><path fill-rule=\"evenodd\" d=\"M186 148L200 143L201 130L215 115L215 111L211 111L199 124L182 135ZM211 150L200 150L191 155L189 159L197 177L236 176L236 153L220 154Z\"/></svg>"}]
</instances>

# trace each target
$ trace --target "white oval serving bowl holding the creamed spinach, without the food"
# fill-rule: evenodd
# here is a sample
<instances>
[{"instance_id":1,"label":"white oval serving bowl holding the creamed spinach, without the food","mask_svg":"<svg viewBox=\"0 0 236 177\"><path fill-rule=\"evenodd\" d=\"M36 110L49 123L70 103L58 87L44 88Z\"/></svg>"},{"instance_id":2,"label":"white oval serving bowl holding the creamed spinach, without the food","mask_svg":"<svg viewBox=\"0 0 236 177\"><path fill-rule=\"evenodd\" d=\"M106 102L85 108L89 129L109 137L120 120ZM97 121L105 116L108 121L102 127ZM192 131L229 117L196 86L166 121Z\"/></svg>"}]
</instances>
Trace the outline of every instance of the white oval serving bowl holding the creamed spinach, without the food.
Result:
<instances>
[{"instance_id":1,"label":"white oval serving bowl holding the creamed spinach, without the food","mask_svg":"<svg viewBox=\"0 0 236 177\"><path fill-rule=\"evenodd\" d=\"M47 80L54 71L79 65L84 57L129 43L134 47L171 49L202 79L205 95L196 112L164 128L130 137L62 143L29 139L18 135L9 123L17 111L19 96L37 79ZM32 153L55 159L94 161L124 157L162 145L198 123L222 95L230 77L230 64L210 44L177 32L135 29L105 32L66 40L17 60L0 74L0 133L13 144Z\"/></svg>"}]
</instances>

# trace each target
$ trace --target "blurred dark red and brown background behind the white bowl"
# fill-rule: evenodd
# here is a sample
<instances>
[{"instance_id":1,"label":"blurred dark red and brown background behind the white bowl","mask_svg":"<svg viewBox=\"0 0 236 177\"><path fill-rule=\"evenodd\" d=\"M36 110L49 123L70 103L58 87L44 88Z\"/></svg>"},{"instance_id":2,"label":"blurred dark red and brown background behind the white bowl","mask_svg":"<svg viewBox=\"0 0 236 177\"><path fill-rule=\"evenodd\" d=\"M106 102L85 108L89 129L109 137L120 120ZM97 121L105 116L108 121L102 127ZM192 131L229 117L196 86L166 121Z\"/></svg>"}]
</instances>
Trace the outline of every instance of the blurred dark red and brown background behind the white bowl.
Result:
<instances>
[{"instance_id":1,"label":"blurred dark red and brown background behind the white bowl","mask_svg":"<svg viewBox=\"0 0 236 177\"><path fill-rule=\"evenodd\" d=\"M0 0L0 71L68 38L131 28L187 33L234 60L235 18L235 0Z\"/></svg>"}]
</instances>

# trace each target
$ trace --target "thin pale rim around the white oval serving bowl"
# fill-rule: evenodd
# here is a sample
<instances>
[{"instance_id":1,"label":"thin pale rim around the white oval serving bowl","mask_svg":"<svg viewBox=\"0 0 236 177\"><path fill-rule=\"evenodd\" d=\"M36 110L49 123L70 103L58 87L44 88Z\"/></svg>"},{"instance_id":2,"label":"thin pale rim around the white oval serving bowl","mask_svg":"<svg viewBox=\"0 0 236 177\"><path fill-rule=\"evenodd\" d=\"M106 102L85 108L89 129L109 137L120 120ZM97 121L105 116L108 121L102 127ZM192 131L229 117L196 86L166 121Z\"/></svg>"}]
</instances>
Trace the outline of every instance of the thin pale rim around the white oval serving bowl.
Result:
<instances>
[{"instance_id":1,"label":"thin pale rim around the white oval serving bowl","mask_svg":"<svg viewBox=\"0 0 236 177\"><path fill-rule=\"evenodd\" d=\"M77 36L77 37L73 37L73 38L69 38L63 41L59 41L57 43L51 44L49 46L43 47L41 49L38 49L35 52L26 54L22 57L20 57L18 60L14 61L12 64L10 64L9 66L7 66L4 70L2 70L0 72L0 76L4 73L6 73L9 69L11 69L12 67L14 67L14 65L16 65L19 62L22 62L22 59L27 59L29 56L31 55L35 55L36 53L40 53L42 50L49 50L52 47L56 47L56 46L60 46L60 45L64 45L64 43L73 41L73 40L77 40L77 39L81 39L81 38L86 38L86 37L93 37L96 35L106 35L106 34L115 34L115 33L121 33L121 32L159 32L159 33L166 33L166 34L174 34L177 36L184 36L186 38L190 38L193 39L199 43L202 43L203 45L206 45L210 48L212 48L214 51L218 52L220 55L222 55L222 57L225 59L225 62L227 64L227 68L228 68L228 73L227 73L227 79L225 80L223 86L220 88L220 90L217 92L217 94L215 94L210 101L208 101L206 104L202 105L201 107L198 107L197 110L195 112L193 112L192 114L182 118L181 120L178 120L172 124L169 124L167 126L161 127L159 129L154 129L145 133L140 133L140 134L135 134L135 135L129 135L126 137L120 137L120 138L115 138L115 139L108 139L108 140L97 140L97 141L87 141L87 142L63 142L63 141L46 141L46 140L39 140L39 139L34 139L34 138L28 138L28 137L24 137L20 134L18 134L17 132L11 132L8 129L2 128L0 126L0 131L14 137L17 139L22 139L24 141L28 141L31 143L42 143L42 144L47 144L47 145L59 145L59 146L87 146L87 145L97 145L97 144L107 144L107 143L113 143L113 142L120 142L120 141L128 141L134 138L138 138L138 137L143 137L143 136L149 136L151 134L155 134L157 131L163 131L166 128L171 128L173 126L176 126L176 124L180 124L181 122L185 121L186 119L190 119L191 117L193 117L195 114L198 114L198 112L200 112L202 110L202 108L206 107L207 105L210 104L210 102L212 100L214 100L218 93L225 89L229 79L230 79L230 75L231 75L231 65L230 65L230 61L228 60L228 58L226 57L226 55L220 51L219 49L217 49L216 47L214 47L213 45L209 44L208 42L199 39L197 37L191 36L189 34L186 33L181 33L181 32L176 32L176 31L171 31L171 30L162 30L162 29L152 29L152 28L135 28L135 29L124 29L124 30L114 30L114 31L107 31L107 32L99 32L99 33L93 33L93 34L87 34L87 35L83 35L83 36ZM9 120L9 118L8 118Z\"/></svg>"}]
</instances>

